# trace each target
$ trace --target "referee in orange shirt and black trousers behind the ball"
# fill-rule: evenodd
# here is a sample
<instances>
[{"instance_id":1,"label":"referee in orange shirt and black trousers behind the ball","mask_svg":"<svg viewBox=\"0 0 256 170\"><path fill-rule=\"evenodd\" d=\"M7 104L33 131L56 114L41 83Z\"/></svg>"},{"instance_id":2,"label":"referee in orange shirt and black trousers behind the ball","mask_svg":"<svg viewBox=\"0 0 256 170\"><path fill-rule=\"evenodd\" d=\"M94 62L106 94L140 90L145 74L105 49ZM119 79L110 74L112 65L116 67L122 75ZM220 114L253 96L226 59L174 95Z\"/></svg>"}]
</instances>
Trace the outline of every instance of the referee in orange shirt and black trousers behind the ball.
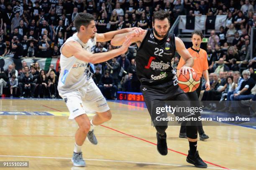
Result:
<instances>
[{"instance_id":1,"label":"referee in orange shirt and black trousers behind the ball","mask_svg":"<svg viewBox=\"0 0 256 170\"><path fill-rule=\"evenodd\" d=\"M188 92L186 93L189 100L191 101L198 101L195 103L192 103L192 107L200 107L199 103L199 95L202 87L202 76L204 76L206 80L205 89L206 91L210 90L210 80L209 80L209 73L208 73L208 61L207 61L207 52L200 48L200 44L202 42L203 34L201 31L194 31L191 35L191 41L193 46L188 48L187 50L191 54L191 56L194 58L194 66L192 67L195 72L201 77L200 85L196 89L196 91ZM185 61L180 58L179 64L177 66L177 76L179 77L180 71L179 69L185 64ZM194 106L193 106L194 105ZM200 117L200 112L195 113L197 117ZM202 128L202 122L199 121L199 124L197 125L197 130L200 136L200 140L206 140L209 138L207 134L205 134L203 128ZM180 138L187 138L186 134L186 127L184 124L180 127L179 132Z\"/></svg>"}]
</instances>

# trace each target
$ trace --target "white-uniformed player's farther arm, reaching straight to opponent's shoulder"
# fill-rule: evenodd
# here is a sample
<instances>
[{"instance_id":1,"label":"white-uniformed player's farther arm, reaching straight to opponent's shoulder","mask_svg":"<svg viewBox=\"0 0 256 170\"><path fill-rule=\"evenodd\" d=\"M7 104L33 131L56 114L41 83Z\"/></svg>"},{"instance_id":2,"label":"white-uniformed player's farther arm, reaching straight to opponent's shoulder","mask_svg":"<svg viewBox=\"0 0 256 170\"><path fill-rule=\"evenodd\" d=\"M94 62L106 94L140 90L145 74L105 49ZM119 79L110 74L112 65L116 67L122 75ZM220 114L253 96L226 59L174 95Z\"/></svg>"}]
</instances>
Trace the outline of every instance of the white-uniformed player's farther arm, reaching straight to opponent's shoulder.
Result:
<instances>
[{"instance_id":1,"label":"white-uniformed player's farther arm, reaching straight to opponent's shoulder","mask_svg":"<svg viewBox=\"0 0 256 170\"><path fill-rule=\"evenodd\" d=\"M123 34L123 33L128 33L136 29L136 27L133 28L123 28L121 30L115 30L115 31L110 31L107 33L96 33L95 37L97 42L106 42L110 41L114 38L115 35L117 34Z\"/></svg>"}]
</instances>

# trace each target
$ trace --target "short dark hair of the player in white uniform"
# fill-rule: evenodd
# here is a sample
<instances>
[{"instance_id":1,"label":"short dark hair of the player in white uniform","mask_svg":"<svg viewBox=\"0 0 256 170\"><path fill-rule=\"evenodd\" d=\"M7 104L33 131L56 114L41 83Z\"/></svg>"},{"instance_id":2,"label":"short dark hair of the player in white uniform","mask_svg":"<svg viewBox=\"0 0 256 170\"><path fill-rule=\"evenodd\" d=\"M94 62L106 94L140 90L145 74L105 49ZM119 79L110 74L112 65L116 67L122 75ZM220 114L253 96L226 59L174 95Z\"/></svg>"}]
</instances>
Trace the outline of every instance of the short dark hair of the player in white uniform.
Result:
<instances>
[{"instance_id":1,"label":"short dark hair of the player in white uniform","mask_svg":"<svg viewBox=\"0 0 256 170\"><path fill-rule=\"evenodd\" d=\"M77 32L79 32L81 25L87 27L92 20L94 20L92 14L78 13L78 15L74 19L74 26L75 28L77 28Z\"/></svg>"}]
</instances>

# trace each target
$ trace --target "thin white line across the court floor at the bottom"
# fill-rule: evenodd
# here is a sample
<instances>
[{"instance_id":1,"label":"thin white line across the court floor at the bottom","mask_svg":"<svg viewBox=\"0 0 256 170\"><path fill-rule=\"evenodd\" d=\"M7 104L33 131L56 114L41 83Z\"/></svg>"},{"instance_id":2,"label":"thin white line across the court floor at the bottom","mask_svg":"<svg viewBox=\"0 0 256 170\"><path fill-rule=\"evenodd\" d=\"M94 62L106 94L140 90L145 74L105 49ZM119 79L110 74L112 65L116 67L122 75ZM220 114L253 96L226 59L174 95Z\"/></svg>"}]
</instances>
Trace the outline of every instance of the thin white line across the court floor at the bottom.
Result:
<instances>
[{"instance_id":1,"label":"thin white line across the court floor at the bottom","mask_svg":"<svg viewBox=\"0 0 256 170\"><path fill-rule=\"evenodd\" d=\"M0 155L0 157L32 157L32 158L46 158L46 159L68 159L68 157L36 157L36 156L14 156L14 155ZM146 164L146 165L166 165L166 166L179 166L179 167L193 167L187 165L174 165L174 164L163 164L163 163L153 163L153 162L133 162L133 161L123 161L123 160L98 160L98 159L84 159L84 160L95 160L95 161L106 161L106 162L124 162L124 163L138 163L138 164ZM208 169L217 169L217 170L227 170L225 168L219 167L207 167ZM235 169L228 169L235 170Z\"/></svg>"}]
</instances>

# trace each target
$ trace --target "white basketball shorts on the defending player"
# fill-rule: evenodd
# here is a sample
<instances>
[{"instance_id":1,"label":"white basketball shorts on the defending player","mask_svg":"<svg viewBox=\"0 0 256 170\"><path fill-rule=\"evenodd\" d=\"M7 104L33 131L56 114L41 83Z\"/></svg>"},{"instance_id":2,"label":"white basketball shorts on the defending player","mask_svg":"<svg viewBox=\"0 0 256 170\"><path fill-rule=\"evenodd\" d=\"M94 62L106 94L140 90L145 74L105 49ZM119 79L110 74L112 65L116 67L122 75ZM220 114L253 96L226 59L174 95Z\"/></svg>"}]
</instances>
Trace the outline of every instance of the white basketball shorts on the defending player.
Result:
<instances>
[{"instance_id":1,"label":"white basketball shorts on the defending player","mask_svg":"<svg viewBox=\"0 0 256 170\"><path fill-rule=\"evenodd\" d=\"M92 79L80 89L60 94L69 109L69 119L74 119L81 114L106 112L110 108L100 89Z\"/></svg>"}]
</instances>

